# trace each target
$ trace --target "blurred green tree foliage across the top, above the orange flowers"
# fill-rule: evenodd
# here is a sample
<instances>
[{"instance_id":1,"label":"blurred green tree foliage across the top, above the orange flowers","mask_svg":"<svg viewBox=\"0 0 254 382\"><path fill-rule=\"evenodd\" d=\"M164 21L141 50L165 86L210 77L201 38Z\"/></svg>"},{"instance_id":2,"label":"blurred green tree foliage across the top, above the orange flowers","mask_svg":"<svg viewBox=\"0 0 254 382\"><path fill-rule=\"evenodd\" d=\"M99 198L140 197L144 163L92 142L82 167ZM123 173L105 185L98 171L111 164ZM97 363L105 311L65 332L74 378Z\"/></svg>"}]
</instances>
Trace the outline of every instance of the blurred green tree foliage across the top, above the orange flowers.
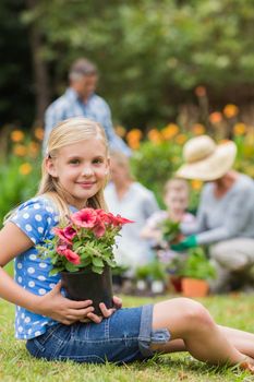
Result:
<instances>
[{"instance_id":1,"label":"blurred green tree foliage across the top, above the orange flowers","mask_svg":"<svg viewBox=\"0 0 254 382\"><path fill-rule=\"evenodd\" d=\"M171 119L179 106L193 100L198 84L207 85L216 105L240 100L232 97L242 94L250 97L254 67L250 0L28 4L33 8L19 0L2 0L0 5L4 47L0 110L9 120L31 118L25 110L31 110L31 89L38 85L32 86L28 62L31 26L40 39L36 58L49 68L51 94L62 93L73 59L87 56L98 64L99 93L109 100L114 119L129 127ZM13 92L16 86L20 91Z\"/></svg>"}]
</instances>

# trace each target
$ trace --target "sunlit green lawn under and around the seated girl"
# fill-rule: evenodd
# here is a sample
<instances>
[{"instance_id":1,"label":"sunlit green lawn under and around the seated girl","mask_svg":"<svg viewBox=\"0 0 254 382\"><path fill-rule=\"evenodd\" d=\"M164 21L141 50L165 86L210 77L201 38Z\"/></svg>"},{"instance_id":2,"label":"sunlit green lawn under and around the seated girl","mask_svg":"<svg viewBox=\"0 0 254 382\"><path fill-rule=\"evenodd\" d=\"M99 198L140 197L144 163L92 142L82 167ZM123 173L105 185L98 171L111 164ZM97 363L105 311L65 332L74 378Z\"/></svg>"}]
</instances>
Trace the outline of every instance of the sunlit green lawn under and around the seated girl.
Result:
<instances>
[{"instance_id":1,"label":"sunlit green lawn under and around the seated girl","mask_svg":"<svg viewBox=\"0 0 254 382\"><path fill-rule=\"evenodd\" d=\"M161 299L161 298L160 298ZM148 298L124 297L124 306L150 302ZM159 300L159 299L156 299ZM253 331L253 297L210 297L202 302L209 308L218 323ZM47 362L32 358L25 344L14 339L14 307L0 299L0 381L1 382L174 382L174 381L254 381L238 368L214 368L193 360L189 354L156 356L146 362L126 366L75 365Z\"/></svg>"}]
</instances>

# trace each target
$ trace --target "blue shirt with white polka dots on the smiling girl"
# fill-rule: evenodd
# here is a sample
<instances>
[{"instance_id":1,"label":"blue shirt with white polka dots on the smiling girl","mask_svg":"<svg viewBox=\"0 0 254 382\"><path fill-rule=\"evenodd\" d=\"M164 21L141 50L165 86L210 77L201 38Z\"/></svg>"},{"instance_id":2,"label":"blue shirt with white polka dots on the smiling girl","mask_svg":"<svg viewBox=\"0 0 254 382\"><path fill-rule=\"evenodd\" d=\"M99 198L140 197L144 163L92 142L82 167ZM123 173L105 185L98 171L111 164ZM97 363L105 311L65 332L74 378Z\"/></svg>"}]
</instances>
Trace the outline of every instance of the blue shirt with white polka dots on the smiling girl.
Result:
<instances>
[{"instance_id":1,"label":"blue shirt with white polka dots on the smiling girl","mask_svg":"<svg viewBox=\"0 0 254 382\"><path fill-rule=\"evenodd\" d=\"M52 227L59 223L53 202L46 196L34 198L19 206L10 222L14 223L37 244L53 237ZM60 276L49 276L50 259L41 259L35 247L17 255L14 260L15 282L32 294L44 296L59 282ZM45 333L48 325L56 324L52 319L35 314L22 307L15 310L15 337L28 339Z\"/></svg>"}]
</instances>

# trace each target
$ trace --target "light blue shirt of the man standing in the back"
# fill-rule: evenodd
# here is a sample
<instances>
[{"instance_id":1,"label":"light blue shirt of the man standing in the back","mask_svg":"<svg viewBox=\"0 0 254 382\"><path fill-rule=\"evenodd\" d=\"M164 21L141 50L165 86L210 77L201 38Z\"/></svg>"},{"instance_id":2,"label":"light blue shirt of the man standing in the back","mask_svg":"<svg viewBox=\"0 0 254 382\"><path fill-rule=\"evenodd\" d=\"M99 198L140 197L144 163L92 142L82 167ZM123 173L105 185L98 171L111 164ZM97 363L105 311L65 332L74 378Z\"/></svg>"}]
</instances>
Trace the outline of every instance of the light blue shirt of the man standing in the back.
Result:
<instances>
[{"instance_id":1,"label":"light blue shirt of the man standing in the back","mask_svg":"<svg viewBox=\"0 0 254 382\"><path fill-rule=\"evenodd\" d=\"M105 129L110 147L125 155L131 155L131 150L113 130L110 108L105 99L93 94L85 104L72 87L69 87L46 110L44 151L46 151L50 131L58 122L72 117L86 117L99 122Z\"/></svg>"}]
</instances>

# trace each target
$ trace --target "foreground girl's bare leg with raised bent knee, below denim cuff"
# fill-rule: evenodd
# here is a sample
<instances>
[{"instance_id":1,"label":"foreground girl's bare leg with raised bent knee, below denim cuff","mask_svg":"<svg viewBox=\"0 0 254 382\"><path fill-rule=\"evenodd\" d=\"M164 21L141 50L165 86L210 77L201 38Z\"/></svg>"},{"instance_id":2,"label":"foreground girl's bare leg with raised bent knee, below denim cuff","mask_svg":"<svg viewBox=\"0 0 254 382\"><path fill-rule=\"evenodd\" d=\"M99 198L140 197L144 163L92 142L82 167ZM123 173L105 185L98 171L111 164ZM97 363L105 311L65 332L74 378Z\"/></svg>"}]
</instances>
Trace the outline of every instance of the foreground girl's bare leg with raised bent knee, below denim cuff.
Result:
<instances>
[{"instance_id":1,"label":"foreground girl's bare leg with raised bent knee, below denim cuff","mask_svg":"<svg viewBox=\"0 0 254 382\"><path fill-rule=\"evenodd\" d=\"M254 363L253 359L233 346L232 336L239 333L233 334L227 329L225 333L228 335L225 335L223 329L215 324L209 312L194 300L176 298L156 303L153 329L162 327L169 330L172 342L153 346L159 351L188 350L193 357L216 365L235 365L246 360Z\"/></svg>"}]
</instances>

